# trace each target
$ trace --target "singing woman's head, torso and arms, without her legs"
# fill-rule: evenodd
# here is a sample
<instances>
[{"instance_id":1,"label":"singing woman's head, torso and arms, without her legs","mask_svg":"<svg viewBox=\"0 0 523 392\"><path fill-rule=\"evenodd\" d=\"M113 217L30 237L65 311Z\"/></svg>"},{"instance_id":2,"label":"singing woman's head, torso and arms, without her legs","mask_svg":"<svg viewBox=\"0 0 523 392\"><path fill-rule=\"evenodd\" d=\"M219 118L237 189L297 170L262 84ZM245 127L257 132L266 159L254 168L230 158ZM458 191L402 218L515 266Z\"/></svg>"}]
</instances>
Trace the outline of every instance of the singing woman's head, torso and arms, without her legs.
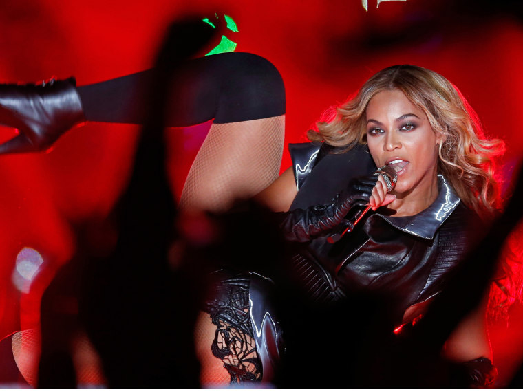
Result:
<instances>
[{"instance_id":1,"label":"singing woman's head, torso and arms, without her legs","mask_svg":"<svg viewBox=\"0 0 523 392\"><path fill-rule=\"evenodd\" d=\"M317 127L316 144L291 146L292 169L259 195L290 210L281 227L302 243L292 262L304 292L316 303L378 295L394 325L412 323L495 215L493 157L503 144L484 139L456 87L414 65L378 72ZM393 190L368 175L385 165L397 175ZM372 212L336 241L345 216L365 204ZM492 382L484 309L460 323L444 355L480 364L478 384Z\"/></svg>"}]
</instances>

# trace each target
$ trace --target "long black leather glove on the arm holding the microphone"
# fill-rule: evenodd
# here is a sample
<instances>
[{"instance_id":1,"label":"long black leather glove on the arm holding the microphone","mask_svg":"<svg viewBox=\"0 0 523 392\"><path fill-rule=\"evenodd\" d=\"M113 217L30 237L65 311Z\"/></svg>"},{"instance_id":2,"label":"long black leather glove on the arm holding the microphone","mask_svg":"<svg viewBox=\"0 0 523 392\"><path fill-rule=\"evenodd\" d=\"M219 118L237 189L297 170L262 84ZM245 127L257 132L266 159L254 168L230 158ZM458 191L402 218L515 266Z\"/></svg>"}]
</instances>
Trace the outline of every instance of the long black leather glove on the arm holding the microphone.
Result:
<instances>
[{"instance_id":1,"label":"long black leather glove on the arm holding the microphone","mask_svg":"<svg viewBox=\"0 0 523 392\"><path fill-rule=\"evenodd\" d=\"M330 204L298 208L281 214L279 227L287 241L307 242L343 222L345 215L354 206L365 206L369 202L372 188L378 181L378 175L368 175L352 179L347 188L332 199Z\"/></svg>"}]
</instances>

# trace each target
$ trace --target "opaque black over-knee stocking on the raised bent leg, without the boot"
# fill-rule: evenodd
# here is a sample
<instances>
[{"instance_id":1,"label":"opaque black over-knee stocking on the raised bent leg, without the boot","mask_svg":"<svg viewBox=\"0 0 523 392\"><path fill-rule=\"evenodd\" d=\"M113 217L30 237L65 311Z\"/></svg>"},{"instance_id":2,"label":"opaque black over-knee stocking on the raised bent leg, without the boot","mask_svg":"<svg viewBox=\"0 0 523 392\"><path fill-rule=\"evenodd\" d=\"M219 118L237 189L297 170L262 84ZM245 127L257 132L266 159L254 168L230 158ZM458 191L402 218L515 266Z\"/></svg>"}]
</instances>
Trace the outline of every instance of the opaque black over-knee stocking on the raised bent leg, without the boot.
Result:
<instances>
[{"instance_id":1,"label":"opaque black over-knee stocking on the raised bent leg, without the boot","mask_svg":"<svg viewBox=\"0 0 523 392\"><path fill-rule=\"evenodd\" d=\"M142 124L153 69L77 88L88 121ZM250 53L222 53L184 61L169 91L168 127L217 124L281 116L283 81L266 59Z\"/></svg>"}]
</instances>

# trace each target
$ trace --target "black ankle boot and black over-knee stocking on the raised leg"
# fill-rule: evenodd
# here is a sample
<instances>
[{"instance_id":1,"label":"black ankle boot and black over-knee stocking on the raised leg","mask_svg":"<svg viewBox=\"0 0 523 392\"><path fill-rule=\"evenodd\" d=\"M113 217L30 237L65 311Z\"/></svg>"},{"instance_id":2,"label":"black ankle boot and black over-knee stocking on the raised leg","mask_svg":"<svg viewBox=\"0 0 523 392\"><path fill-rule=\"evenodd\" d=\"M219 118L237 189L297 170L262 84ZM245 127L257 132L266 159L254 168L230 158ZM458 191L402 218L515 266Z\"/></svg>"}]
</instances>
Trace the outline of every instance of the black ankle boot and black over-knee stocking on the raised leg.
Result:
<instances>
[{"instance_id":1,"label":"black ankle boot and black over-knee stocking on the raised leg","mask_svg":"<svg viewBox=\"0 0 523 392\"><path fill-rule=\"evenodd\" d=\"M281 116L283 81L266 59L224 53L175 65L164 124L182 127L214 118L217 124ZM85 121L142 124L153 70L75 87L74 78L43 85L0 85L0 123L21 135L0 153L42 151Z\"/></svg>"}]
</instances>

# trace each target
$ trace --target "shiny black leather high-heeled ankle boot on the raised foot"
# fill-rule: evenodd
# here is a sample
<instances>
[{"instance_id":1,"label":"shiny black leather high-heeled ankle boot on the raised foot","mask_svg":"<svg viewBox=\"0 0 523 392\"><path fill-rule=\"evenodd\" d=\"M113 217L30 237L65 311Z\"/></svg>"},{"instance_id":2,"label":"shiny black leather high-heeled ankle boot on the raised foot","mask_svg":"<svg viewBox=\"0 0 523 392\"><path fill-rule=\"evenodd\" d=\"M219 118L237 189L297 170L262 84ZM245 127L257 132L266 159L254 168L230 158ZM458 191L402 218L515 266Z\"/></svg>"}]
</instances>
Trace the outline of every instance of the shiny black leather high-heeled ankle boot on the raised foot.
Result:
<instances>
[{"instance_id":1,"label":"shiny black leather high-heeled ankle boot on the raised foot","mask_svg":"<svg viewBox=\"0 0 523 392\"><path fill-rule=\"evenodd\" d=\"M43 151L85 121L74 86L74 78L41 85L0 85L0 123L20 132L0 145L0 153Z\"/></svg>"}]
</instances>

